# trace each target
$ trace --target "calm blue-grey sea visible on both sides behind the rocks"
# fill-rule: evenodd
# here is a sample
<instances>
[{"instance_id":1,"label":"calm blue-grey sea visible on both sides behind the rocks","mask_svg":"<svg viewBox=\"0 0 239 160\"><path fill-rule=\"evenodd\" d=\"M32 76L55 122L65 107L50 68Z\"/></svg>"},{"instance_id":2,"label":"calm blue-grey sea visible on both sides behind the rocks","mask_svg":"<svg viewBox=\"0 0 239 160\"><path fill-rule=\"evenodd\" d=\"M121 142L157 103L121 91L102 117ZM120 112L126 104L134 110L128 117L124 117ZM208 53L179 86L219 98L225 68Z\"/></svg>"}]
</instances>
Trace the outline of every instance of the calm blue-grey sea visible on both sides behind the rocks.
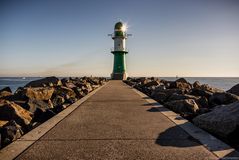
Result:
<instances>
[{"instance_id":1,"label":"calm blue-grey sea visible on both sides behind the rocks","mask_svg":"<svg viewBox=\"0 0 239 160\"><path fill-rule=\"evenodd\" d=\"M15 92L18 87L24 87L28 82L41 79L42 77L0 77L0 89L4 87L10 87L12 92ZM62 77L59 77L62 78ZM165 79L174 81L182 77L159 77L159 79ZM210 86L229 90L231 87L239 83L239 77L183 77L188 82L194 83L199 81L201 84L209 84Z\"/></svg>"}]
</instances>

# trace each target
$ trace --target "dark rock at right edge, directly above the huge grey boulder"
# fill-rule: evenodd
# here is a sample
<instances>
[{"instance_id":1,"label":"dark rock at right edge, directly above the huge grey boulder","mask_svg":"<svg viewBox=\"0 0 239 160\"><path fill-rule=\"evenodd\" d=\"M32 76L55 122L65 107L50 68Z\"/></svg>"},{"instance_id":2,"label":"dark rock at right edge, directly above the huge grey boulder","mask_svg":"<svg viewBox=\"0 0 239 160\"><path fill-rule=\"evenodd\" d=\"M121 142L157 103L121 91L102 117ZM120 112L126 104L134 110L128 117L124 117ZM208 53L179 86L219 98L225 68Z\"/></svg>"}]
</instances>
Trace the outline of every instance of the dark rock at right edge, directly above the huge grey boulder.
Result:
<instances>
[{"instance_id":1,"label":"dark rock at right edge, directly above the huge grey boulder","mask_svg":"<svg viewBox=\"0 0 239 160\"><path fill-rule=\"evenodd\" d=\"M230 104L236 101L239 101L239 96L227 92L214 93L209 98L209 103L214 106L221 104Z\"/></svg>"}]
</instances>

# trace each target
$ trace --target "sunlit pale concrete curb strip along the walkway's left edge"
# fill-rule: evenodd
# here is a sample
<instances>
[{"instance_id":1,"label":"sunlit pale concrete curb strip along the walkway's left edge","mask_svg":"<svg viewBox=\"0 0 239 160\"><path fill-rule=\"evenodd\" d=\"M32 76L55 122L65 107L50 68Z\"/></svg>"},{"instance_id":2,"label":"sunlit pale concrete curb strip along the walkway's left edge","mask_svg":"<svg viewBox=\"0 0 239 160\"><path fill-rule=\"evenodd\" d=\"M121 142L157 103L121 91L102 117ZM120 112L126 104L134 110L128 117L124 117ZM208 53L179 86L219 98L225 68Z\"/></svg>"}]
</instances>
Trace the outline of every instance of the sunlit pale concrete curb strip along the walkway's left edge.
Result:
<instances>
[{"instance_id":1,"label":"sunlit pale concrete curb strip along the walkway's left edge","mask_svg":"<svg viewBox=\"0 0 239 160\"><path fill-rule=\"evenodd\" d=\"M109 81L108 81L109 82ZM108 82L99 88L93 90L85 97L82 97L75 103L68 106L63 111L56 114L54 117L48 119L46 122L37 126L33 130L29 131L16 141L7 145L3 149L0 150L0 159L1 160L12 160L17 158L21 153L23 153L27 148L33 145L37 140L39 140L42 136L44 136L48 131L50 131L53 127L55 127L59 122L61 122L64 118L70 115L75 109L77 109L82 103L88 100L91 96L93 96L97 91L105 87Z\"/></svg>"}]
</instances>

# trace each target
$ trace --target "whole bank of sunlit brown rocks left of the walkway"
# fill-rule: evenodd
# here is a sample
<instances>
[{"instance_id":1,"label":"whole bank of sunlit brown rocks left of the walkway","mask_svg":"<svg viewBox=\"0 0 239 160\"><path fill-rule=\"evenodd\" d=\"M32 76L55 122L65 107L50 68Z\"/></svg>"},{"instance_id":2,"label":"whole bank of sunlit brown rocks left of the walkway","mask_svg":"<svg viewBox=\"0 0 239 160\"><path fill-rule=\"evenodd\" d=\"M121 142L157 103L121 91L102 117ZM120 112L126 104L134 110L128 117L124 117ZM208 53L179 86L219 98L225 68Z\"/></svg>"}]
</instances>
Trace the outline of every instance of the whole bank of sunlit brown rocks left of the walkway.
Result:
<instances>
[{"instance_id":1,"label":"whole bank of sunlit brown rocks left of the walkway","mask_svg":"<svg viewBox=\"0 0 239 160\"><path fill-rule=\"evenodd\" d=\"M105 78L47 77L12 93L0 90L0 148L45 122L70 104L103 85Z\"/></svg>"}]
</instances>

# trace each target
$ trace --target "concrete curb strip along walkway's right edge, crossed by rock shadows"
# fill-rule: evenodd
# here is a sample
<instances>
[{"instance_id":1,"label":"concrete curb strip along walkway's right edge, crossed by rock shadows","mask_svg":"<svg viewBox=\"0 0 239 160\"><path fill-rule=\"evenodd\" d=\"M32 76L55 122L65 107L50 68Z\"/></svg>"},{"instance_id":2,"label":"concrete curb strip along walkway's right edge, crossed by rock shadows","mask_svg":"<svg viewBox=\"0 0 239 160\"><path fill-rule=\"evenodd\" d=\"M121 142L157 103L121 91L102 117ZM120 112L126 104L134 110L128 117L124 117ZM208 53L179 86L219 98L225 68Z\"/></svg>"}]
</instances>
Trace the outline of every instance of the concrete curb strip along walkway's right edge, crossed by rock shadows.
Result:
<instances>
[{"instance_id":1,"label":"concrete curb strip along walkway's right edge, crossed by rock shadows","mask_svg":"<svg viewBox=\"0 0 239 160\"><path fill-rule=\"evenodd\" d=\"M239 159L239 152L236 151L231 146L212 136L210 133L204 131L203 129L195 126L193 123L184 119L183 117L173 112L172 110L164 107L163 105L153 100L152 98L142 93L141 91L135 88L132 89L142 98L144 98L149 104L152 104L152 107L158 109L160 113L166 116L169 120L171 120L173 123L181 127L193 138L198 140L207 150L209 150L209 152L213 153L217 158ZM236 155L236 157L233 155Z\"/></svg>"}]
</instances>

